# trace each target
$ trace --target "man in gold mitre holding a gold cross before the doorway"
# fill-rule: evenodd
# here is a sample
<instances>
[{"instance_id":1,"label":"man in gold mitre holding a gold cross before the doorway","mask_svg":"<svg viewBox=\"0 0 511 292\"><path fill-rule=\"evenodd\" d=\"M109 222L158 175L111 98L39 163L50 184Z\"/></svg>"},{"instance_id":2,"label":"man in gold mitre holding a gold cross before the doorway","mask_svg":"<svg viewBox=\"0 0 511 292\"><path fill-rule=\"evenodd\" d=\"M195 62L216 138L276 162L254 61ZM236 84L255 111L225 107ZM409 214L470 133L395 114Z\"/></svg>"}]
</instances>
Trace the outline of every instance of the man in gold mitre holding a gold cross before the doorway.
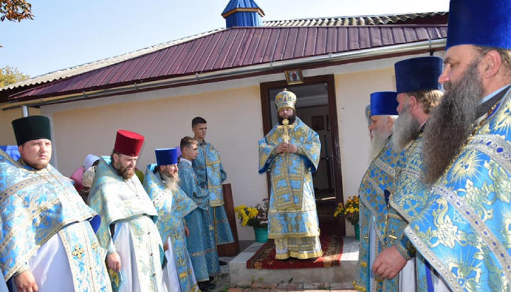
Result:
<instances>
[{"instance_id":1,"label":"man in gold mitre holding a gold cross before the doorway","mask_svg":"<svg viewBox=\"0 0 511 292\"><path fill-rule=\"evenodd\" d=\"M269 171L271 178L268 238L275 239L275 259L323 255L312 185L321 142L296 117L296 102L296 95L286 89L277 94L279 123L259 140L259 173Z\"/></svg>"}]
</instances>

